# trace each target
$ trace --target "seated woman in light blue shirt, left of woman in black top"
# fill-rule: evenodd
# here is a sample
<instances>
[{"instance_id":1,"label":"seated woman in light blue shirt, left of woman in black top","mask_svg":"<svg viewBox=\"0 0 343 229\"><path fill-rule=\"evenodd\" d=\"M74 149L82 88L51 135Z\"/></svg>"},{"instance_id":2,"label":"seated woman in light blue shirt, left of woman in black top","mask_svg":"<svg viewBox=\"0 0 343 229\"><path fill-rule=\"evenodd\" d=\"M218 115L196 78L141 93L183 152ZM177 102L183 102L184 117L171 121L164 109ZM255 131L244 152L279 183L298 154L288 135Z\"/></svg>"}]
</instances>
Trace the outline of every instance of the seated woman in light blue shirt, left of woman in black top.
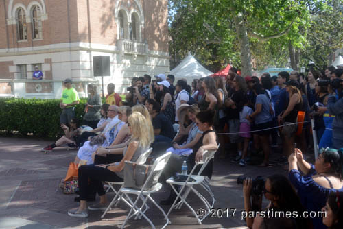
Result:
<instances>
[{"instance_id":1,"label":"seated woman in light blue shirt, left of woman in black top","mask_svg":"<svg viewBox=\"0 0 343 229\"><path fill-rule=\"evenodd\" d=\"M196 125L196 115L200 112L198 108L198 104L193 104L189 106L188 104L181 104L180 108L178 108L178 120L180 120L179 125L179 132L173 139L173 147L167 149L167 152L172 152L173 154L180 154L183 156L189 156L189 154L193 153L193 146L199 141L202 136L202 131L198 129ZM184 127L183 121L186 118L191 120L191 124ZM178 141L183 137L187 136L187 141L178 145Z\"/></svg>"}]
</instances>

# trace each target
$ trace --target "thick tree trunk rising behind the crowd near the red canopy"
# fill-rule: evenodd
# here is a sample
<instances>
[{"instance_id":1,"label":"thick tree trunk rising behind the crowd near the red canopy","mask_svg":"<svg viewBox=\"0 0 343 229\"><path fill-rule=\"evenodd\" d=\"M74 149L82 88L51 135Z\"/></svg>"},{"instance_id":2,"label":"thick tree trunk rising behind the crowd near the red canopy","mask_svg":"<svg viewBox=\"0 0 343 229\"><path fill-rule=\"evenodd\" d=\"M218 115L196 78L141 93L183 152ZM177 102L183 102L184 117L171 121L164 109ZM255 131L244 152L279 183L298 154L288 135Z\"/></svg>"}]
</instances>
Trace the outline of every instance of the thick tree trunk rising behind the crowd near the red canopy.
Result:
<instances>
[{"instance_id":1,"label":"thick tree trunk rising behind the crowd near the red canopy","mask_svg":"<svg viewBox=\"0 0 343 229\"><path fill-rule=\"evenodd\" d=\"M239 45L241 48L241 76L251 76L252 66L250 44L248 38L248 30L246 28L246 23L244 22L243 16L235 17L235 25L237 29Z\"/></svg>"}]
</instances>

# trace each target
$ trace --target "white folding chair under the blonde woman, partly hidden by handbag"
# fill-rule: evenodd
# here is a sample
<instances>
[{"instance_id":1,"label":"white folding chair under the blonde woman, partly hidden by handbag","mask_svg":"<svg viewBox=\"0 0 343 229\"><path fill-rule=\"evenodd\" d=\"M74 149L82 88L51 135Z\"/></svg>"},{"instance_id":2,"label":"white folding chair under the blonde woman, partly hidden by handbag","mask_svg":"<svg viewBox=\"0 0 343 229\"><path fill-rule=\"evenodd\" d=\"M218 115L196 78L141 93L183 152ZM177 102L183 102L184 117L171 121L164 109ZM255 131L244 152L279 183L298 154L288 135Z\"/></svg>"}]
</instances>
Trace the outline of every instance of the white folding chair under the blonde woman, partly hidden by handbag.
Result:
<instances>
[{"instance_id":1,"label":"white folding chair under the blonde woman, partly hidden by handbag","mask_svg":"<svg viewBox=\"0 0 343 229\"><path fill-rule=\"evenodd\" d=\"M141 154L139 156L136 163L143 165L147 161L147 158L150 156L151 152L152 152L152 148L147 149L147 151L145 151L143 154ZM112 189L113 192L115 193L115 197L113 197L113 200L110 202L110 204L108 205L108 207L106 208L106 210L102 214L102 219L105 217L106 213L108 212L108 210L110 210L110 208L112 208L113 205L117 206L119 204L120 200L123 200L123 202L126 203L130 208L132 207L131 204L127 200L125 200L125 198L123 198L123 194L119 195L119 191L115 190L115 185L120 185L122 187L124 182L108 182L108 181L106 181L106 184L108 184L108 189L106 190L106 192L108 192L110 189ZM145 210L147 210L147 209L145 209ZM137 217L139 217L139 216L137 216Z\"/></svg>"}]
</instances>

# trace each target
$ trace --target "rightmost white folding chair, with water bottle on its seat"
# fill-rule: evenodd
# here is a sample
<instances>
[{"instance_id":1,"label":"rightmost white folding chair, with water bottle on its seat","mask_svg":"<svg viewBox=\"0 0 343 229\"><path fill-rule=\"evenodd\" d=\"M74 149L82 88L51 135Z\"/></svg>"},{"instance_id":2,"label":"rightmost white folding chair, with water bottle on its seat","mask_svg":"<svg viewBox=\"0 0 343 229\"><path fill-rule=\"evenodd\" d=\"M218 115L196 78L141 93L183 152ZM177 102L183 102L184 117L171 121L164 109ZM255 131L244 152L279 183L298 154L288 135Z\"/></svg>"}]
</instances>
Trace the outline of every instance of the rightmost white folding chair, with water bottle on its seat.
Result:
<instances>
[{"instance_id":1,"label":"rightmost white folding chair, with water bottle on its seat","mask_svg":"<svg viewBox=\"0 0 343 229\"><path fill-rule=\"evenodd\" d=\"M200 174L202 173L202 171L204 171L204 169L206 168L206 165L209 164L209 161L214 157L215 152L217 152L217 149L211 150L211 151L205 151L202 162L196 162L196 165L194 165L194 167L191 169L191 172L189 173L187 179L184 182L176 181L174 180L174 177L171 177L167 180L167 183L170 184L171 189L173 189L175 193L177 194L176 199L174 200L174 203L171 205L167 213L167 216L169 216L169 214L171 213L171 210L173 210L174 208L180 209L182 204L185 204L189 208L189 210L191 210L193 215L196 217L198 224L201 224L202 221L210 214L211 208L213 208L213 205L215 202L215 198L214 198L213 192L211 191L211 188L209 187L209 181L206 180L208 178L205 178L204 176L200 176ZM202 167L200 167L198 174L193 175L193 172L195 171L196 167L200 164L202 164ZM190 180L191 178L193 178L193 181ZM194 188L194 186L197 184L202 186L204 190L210 194L212 198L212 204L210 204L209 201L206 200L206 198ZM177 191L174 185L181 186L180 191ZM193 193L195 193L196 196L199 197L199 199L204 203L204 206L206 208L206 215L204 215L202 219L198 217L196 211L186 201L191 191L193 191Z\"/></svg>"}]
</instances>

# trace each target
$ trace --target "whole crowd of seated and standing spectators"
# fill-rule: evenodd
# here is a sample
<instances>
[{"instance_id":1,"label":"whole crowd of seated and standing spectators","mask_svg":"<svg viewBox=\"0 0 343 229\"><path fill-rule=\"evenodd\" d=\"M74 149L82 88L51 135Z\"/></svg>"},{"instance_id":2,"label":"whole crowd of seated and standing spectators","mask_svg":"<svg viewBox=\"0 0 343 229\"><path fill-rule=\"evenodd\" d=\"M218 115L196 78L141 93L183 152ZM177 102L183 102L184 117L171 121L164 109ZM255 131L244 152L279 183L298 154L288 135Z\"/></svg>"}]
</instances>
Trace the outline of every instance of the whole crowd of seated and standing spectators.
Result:
<instances>
[{"instance_id":1,"label":"whole crowd of seated and standing spectators","mask_svg":"<svg viewBox=\"0 0 343 229\"><path fill-rule=\"evenodd\" d=\"M74 118L79 98L71 83L70 79L64 81L60 104L64 136L44 149L68 144L78 148L75 162L84 160L87 164L79 169L80 206L69 210L69 215L87 217L88 210L106 209L102 181L122 181L123 162L136 161L149 147L154 158L172 152L161 177L165 182L181 171L183 161L190 170L205 150L216 150L219 143L218 158L233 156L232 161L241 166L257 164L257 160L259 167L270 165L272 148L279 145L279 160L289 163L289 178L275 175L265 181L268 209L302 212L323 208L328 217L311 221L255 217L247 219L248 226L341 228L343 69L330 66L322 72L310 69L306 74L282 71L273 76L241 77L231 68L227 77L208 76L193 82L175 82L174 75L159 74L154 80L144 75L132 79L124 101L115 93L115 85L108 84L106 104L102 104L95 84L90 84L82 127ZM315 121L314 130L310 119ZM311 165L306 154L316 147L311 140L314 131L323 149ZM263 157L253 159L257 152ZM212 172L213 160L202 175L211 178ZM251 189L252 180L246 179L247 211L251 210ZM87 208L86 201L94 200L96 193L100 203ZM171 204L175 197L171 191L161 204Z\"/></svg>"}]
</instances>

